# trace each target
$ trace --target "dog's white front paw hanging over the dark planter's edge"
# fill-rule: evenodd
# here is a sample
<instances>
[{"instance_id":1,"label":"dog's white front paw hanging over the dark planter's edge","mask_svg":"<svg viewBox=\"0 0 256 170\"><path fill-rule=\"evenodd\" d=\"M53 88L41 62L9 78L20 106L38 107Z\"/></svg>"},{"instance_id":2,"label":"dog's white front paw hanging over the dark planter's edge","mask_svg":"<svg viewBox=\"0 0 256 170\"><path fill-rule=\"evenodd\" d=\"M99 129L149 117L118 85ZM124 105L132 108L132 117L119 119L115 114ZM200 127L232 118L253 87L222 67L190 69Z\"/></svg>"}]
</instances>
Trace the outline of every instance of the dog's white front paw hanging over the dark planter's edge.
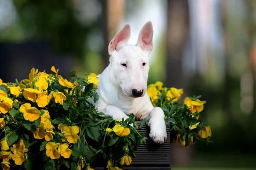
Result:
<instances>
[{"instance_id":1,"label":"dog's white front paw hanging over the dark planter's edge","mask_svg":"<svg viewBox=\"0 0 256 170\"><path fill-rule=\"evenodd\" d=\"M148 122L148 126L150 126L150 133L149 137L158 144L163 144L167 139L167 133L166 133L166 125L163 122L163 124L152 124L151 122Z\"/></svg>"}]
</instances>

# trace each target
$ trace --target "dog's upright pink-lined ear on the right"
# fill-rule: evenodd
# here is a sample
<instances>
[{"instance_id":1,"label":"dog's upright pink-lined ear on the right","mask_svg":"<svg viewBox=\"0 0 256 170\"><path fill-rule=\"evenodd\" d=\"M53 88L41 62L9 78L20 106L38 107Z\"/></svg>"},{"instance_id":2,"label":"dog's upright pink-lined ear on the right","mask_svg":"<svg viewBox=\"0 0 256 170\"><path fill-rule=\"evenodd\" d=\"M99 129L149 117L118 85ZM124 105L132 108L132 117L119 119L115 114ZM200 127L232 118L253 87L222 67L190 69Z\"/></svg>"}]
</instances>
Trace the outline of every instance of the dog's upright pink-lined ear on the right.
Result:
<instances>
[{"instance_id":1,"label":"dog's upright pink-lined ear on the right","mask_svg":"<svg viewBox=\"0 0 256 170\"><path fill-rule=\"evenodd\" d=\"M145 53L150 54L153 48L153 25L151 21L145 23L141 28L136 46Z\"/></svg>"}]
</instances>

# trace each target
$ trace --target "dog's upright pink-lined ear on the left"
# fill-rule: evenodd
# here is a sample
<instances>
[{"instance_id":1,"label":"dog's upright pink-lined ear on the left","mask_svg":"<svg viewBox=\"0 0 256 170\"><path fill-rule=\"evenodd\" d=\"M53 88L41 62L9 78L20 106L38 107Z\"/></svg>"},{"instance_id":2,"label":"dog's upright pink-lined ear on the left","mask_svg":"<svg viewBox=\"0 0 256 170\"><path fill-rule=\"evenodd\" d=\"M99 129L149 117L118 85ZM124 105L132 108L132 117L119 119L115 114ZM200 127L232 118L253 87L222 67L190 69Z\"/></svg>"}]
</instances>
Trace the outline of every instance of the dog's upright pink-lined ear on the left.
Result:
<instances>
[{"instance_id":1,"label":"dog's upright pink-lined ear on the left","mask_svg":"<svg viewBox=\"0 0 256 170\"><path fill-rule=\"evenodd\" d=\"M123 45L127 44L130 36L131 27L129 24L126 24L109 43L108 54L111 54L113 51L119 51Z\"/></svg>"}]
</instances>

